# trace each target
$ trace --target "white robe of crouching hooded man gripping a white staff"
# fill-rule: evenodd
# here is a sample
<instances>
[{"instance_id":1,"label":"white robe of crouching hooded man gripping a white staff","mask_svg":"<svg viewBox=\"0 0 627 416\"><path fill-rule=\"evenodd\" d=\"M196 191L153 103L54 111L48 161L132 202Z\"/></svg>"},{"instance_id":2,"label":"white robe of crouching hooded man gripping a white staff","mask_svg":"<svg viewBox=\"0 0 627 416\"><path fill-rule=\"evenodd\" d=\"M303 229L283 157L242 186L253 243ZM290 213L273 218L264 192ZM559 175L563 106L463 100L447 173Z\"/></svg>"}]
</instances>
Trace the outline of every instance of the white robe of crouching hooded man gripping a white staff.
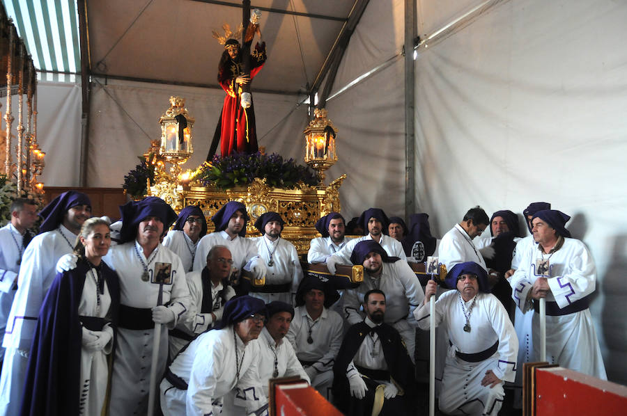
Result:
<instances>
[{"instance_id":1,"label":"white robe of crouching hooded man gripping a white staff","mask_svg":"<svg viewBox=\"0 0 627 416\"><path fill-rule=\"evenodd\" d=\"M472 299L465 302L466 311ZM429 328L429 305L422 304L414 311L421 329ZM477 294L470 312L470 332L463 330L466 318L460 304L459 292L447 291L435 301L435 325L447 329L451 346L440 392L440 410L450 415L494 415L502 406L503 383L482 386L486 371L492 370L502 381L513 381L516 376L518 339L507 311L493 294ZM498 341L497 351L480 362L467 362L456 356L456 351L479 353Z\"/></svg>"}]
</instances>

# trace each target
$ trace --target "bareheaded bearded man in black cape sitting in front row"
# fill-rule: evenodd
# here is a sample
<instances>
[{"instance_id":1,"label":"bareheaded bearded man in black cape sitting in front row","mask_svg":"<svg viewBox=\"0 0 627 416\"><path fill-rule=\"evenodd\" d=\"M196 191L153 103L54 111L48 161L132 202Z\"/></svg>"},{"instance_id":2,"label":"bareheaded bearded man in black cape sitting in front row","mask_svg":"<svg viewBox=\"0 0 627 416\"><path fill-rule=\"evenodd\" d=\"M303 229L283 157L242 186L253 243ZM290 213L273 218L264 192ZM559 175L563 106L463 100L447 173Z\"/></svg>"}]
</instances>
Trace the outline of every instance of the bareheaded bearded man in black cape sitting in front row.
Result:
<instances>
[{"instance_id":1,"label":"bareheaded bearded man in black cape sitting in front row","mask_svg":"<svg viewBox=\"0 0 627 416\"><path fill-rule=\"evenodd\" d=\"M333 366L336 406L349 416L410 415L414 366L401 335L384 323L386 298L364 295L366 319L348 329Z\"/></svg>"}]
</instances>

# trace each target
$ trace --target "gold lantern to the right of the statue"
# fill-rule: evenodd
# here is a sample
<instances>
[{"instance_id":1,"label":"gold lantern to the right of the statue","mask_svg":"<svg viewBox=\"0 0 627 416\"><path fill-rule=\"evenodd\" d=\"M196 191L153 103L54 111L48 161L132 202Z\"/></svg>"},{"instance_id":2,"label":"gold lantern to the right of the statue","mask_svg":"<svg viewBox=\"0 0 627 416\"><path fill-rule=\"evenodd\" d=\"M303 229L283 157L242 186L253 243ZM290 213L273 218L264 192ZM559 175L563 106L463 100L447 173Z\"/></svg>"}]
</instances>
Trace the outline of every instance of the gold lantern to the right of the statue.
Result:
<instances>
[{"instance_id":1,"label":"gold lantern to the right of the statue","mask_svg":"<svg viewBox=\"0 0 627 416\"><path fill-rule=\"evenodd\" d=\"M314 110L314 120L309 122L305 134L304 161L318 174L319 186L325 182L325 170L337 161L335 152L335 137L337 129L331 120L327 119L327 110Z\"/></svg>"}]
</instances>

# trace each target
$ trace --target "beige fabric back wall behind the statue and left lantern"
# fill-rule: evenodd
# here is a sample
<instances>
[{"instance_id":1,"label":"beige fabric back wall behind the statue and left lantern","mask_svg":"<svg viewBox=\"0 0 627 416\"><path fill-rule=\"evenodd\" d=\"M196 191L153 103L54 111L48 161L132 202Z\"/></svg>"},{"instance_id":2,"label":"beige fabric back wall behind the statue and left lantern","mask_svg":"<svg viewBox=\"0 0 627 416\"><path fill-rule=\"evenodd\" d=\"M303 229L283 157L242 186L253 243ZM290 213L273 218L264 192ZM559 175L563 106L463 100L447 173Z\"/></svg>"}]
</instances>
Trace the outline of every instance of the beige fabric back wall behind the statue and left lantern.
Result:
<instances>
[{"instance_id":1,"label":"beige fabric back wall behind the statue and left lantern","mask_svg":"<svg viewBox=\"0 0 627 416\"><path fill-rule=\"evenodd\" d=\"M88 186L122 186L124 175L150 147L150 139L161 137L158 121L169 108L171 95L184 97L187 111L196 120L192 129L194 155L183 169L194 169L205 161L222 110L225 94L222 89L127 81L92 86ZM307 126L307 106L291 113L298 97L260 94L254 90L253 99L259 145L265 146L268 154L278 152L284 158L293 157L304 163L302 131Z\"/></svg>"}]
</instances>

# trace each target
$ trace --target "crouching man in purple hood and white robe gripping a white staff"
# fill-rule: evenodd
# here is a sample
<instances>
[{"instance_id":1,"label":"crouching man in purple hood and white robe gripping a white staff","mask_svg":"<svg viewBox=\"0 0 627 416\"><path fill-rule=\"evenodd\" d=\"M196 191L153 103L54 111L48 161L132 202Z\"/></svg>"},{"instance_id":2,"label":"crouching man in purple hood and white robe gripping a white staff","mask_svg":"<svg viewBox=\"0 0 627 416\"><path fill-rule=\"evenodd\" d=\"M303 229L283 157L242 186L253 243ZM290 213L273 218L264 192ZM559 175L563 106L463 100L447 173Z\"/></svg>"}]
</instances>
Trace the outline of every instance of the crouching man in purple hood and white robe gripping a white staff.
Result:
<instances>
[{"instance_id":1,"label":"crouching man in purple hood and white robe gripping a white staff","mask_svg":"<svg viewBox=\"0 0 627 416\"><path fill-rule=\"evenodd\" d=\"M518 339L507 312L490 294L488 275L479 264L464 262L449 271L449 290L435 302L435 326L443 325L449 351L442 377L440 410L447 415L496 416L504 381L513 381ZM429 298L437 284L429 280L424 303L414 311L421 329L429 329Z\"/></svg>"}]
</instances>

